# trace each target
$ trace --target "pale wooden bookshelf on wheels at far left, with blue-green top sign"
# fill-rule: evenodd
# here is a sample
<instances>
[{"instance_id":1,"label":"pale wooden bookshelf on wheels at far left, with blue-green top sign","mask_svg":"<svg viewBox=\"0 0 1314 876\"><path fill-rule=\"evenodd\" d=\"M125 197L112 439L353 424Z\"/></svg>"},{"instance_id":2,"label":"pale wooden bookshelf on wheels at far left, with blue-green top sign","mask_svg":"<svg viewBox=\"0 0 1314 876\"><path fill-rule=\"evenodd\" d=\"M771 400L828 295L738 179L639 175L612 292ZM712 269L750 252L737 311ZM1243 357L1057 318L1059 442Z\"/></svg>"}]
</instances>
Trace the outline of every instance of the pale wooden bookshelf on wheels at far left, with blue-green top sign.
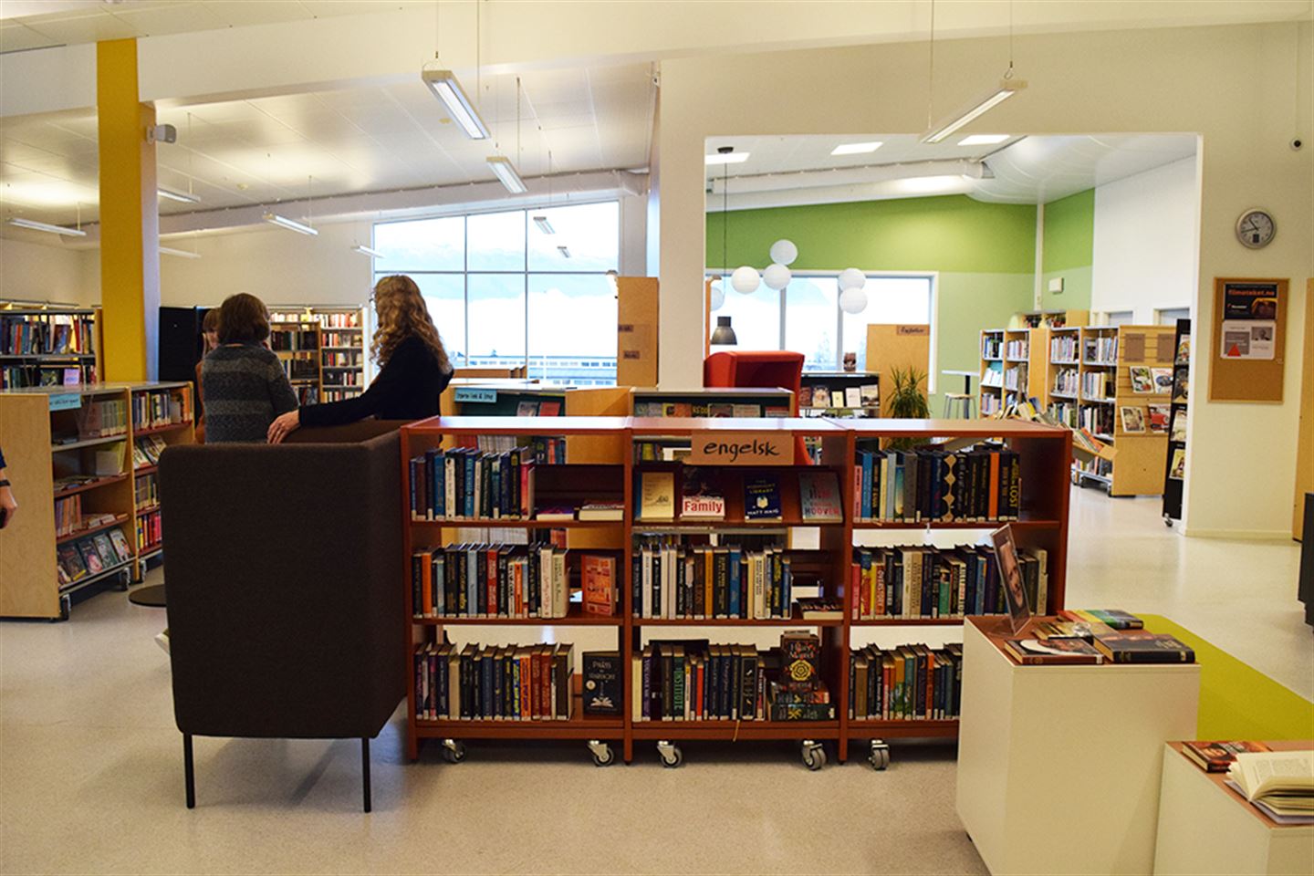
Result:
<instances>
[{"instance_id":1,"label":"pale wooden bookshelf on wheels at far left, with blue-green top sign","mask_svg":"<svg viewBox=\"0 0 1314 876\"><path fill-rule=\"evenodd\" d=\"M0 393L0 447L20 502L0 538L0 617L66 620L76 591L141 579L164 548L151 460L156 449L194 441L193 415L187 382ZM60 508L87 525L70 527L66 516L60 528ZM93 569L81 552L95 549L99 535L124 553ZM63 579L70 550L84 571Z\"/></svg>"}]
</instances>

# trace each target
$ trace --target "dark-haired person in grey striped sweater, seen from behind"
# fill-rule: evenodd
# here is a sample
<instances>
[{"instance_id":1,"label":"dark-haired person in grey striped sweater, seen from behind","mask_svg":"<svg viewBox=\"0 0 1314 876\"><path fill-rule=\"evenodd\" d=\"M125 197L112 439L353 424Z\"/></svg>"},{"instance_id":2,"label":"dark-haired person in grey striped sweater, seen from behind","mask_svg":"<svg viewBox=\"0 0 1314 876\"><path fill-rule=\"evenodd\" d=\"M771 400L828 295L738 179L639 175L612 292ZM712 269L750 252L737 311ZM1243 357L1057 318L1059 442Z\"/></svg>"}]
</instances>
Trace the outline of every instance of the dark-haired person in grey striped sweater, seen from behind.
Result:
<instances>
[{"instance_id":1,"label":"dark-haired person in grey striped sweater, seen from behind","mask_svg":"<svg viewBox=\"0 0 1314 876\"><path fill-rule=\"evenodd\" d=\"M269 311L255 296L229 296L219 306L218 341L201 362L205 441L263 441L269 423L297 408L279 357L264 347Z\"/></svg>"}]
</instances>

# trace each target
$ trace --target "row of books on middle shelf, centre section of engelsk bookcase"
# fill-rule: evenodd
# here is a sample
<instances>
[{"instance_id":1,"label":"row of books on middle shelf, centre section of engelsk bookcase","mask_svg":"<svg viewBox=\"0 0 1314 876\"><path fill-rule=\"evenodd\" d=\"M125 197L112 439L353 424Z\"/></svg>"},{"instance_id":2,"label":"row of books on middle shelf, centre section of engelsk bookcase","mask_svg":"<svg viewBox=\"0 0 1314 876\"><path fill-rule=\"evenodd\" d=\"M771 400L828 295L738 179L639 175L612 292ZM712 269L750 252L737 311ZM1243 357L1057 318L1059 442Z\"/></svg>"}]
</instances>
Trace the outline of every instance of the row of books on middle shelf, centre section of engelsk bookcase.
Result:
<instances>
[{"instance_id":1,"label":"row of books on middle shelf, centre section of engelsk bookcase","mask_svg":"<svg viewBox=\"0 0 1314 876\"><path fill-rule=\"evenodd\" d=\"M779 546L644 540L631 556L633 615L665 620L788 620L790 556Z\"/></svg>"}]
</instances>

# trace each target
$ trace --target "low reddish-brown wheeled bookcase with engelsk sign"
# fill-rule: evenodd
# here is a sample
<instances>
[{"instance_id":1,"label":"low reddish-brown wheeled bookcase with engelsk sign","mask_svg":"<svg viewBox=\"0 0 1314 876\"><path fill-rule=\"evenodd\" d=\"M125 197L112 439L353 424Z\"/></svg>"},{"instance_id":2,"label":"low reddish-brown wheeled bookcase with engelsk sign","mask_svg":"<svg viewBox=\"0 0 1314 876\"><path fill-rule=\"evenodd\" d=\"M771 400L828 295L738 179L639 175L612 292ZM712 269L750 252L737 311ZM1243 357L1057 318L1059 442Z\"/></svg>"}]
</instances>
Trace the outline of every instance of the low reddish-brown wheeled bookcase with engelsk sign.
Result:
<instances>
[{"instance_id":1,"label":"low reddish-brown wheeled bookcase with engelsk sign","mask_svg":"<svg viewBox=\"0 0 1314 876\"><path fill-rule=\"evenodd\" d=\"M470 519L445 514L428 519L428 515L415 514L413 495L415 482L410 475L413 460L424 457L427 452L461 447L498 452L512 445L530 447L535 441L548 439L565 443L565 457L564 461L552 457L557 461L540 462L536 466L532 506L520 506L524 519ZM779 450L779 456L770 461L754 456L745 458L744 465L738 465L723 464L715 454L677 453L654 458L652 453L644 450L644 445L650 443L661 443L664 447L683 444L696 449L695 443L707 447L707 443L723 439L725 443L729 440L741 444L770 443ZM813 449L799 450L804 441ZM594 760L599 764L615 759L607 743L619 742L624 760L629 762L636 742L656 742L664 762L668 766L677 766L682 759L678 747L682 741L787 739L798 741L804 763L817 768L825 762L823 743L834 743L838 759L844 762L848 759L850 742L870 741L872 766L879 767L887 762L887 754L884 760L878 756L884 749L884 739L955 738L958 721L951 717L936 717L949 714L953 709L947 708L947 699L937 701L936 709L932 709L929 697L925 709L912 709L913 713L920 712L916 718L872 720L857 714L850 717L853 647L862 647L872 636L886 640L897 636L899 645L921 649L917 644L920 637L930 634L932 638L942 638L942 633L932 633L932 628L961 628L963 612L961 608L954 608L941 616L937 608L928 608L926 616L859 619L857 611L859 596L853 583L857 580L855 548L922 545L937 537L945 540L945 546L949 549L954 542L979 541L991 529L1008 521L1013 525L1014 537L1024 552L1045 553L1047 591L1043 611L1054 612L1063 607L1068 466L1072 453L1071 432L1063 428L1016 420L440 416L403 427L401 445L403 471L407 473L403 478L401 503L406 520L406 620L413 633L410 640L413 651L406 655L411 682L407 708L407 753L411 759L418 756L420 741L430 738L442 739L447 756L453 760L463 756L461 739L558 738L590 741ZM1016 460L1014 500L1008 506L1008 514L1003 511L1004 504L999 506L997 519L967 517L966 514L951 517L937 512L936 519L928 520L917 519L915 511L882 517L863 511L859 504L862 498L859 490L863 489L862 454L884 453L887 448L890 453L904 453L909 445L934 450L934 454L928 456L937 456L941 460L945 454L959 453L980 453L987 458L993 453L999 458L1007 456ZM971 448L978 449L971 450ZM653 482L645 475L664 473L671 475L675 507L673 514L654 517L645 514L653 507L645 506L644 502L645 486ZM678 496L686 482L685 475L690 475L687 478L690 483L696 482L703 487L711 485L710 493L724 498L720 516L681 517ZM820 504L816 500L817 490L813 485L819 478L834 485L830 491L833 514L817 514L817 508L827 504L825 500ZM750 481L759 483L763 479L778 483L779 515L773 519L759 519L745 511L748 483ZM436 489L432 494L436 494ZM811 496L808 500L804 500L805 494ZM619 504L623 512L618 519L600 521L536 517L536 512L548 507L578 507L590 500ZM470 528L482 531L468 532ZM501 535L487 532L490 529L501 531ZM519 533L522 540L541 538L541 535L533 536L533 533L544 529L556 531L553 537L564 540L572 556L604 553L616 558L619 592L612 616L582 613L578 603L572 603L566 616L557 619L417 616L411 579L411 562L417 552L452 544L499 542L510 537L507 533ZM657 594L652 595L650 602L641 598L643 584L648 582L640 571L644 552L657 550L661 545L673 546L675 550L689 548L687 553L679 556L691 557L689 562L694 569L699 567L692 559L696 552L706 552L707 563L711 563L711 554L716 548L735 550L742 545L745 554L762 550L778 553L782 563L783 558L788 559L791 575L788 580L792 582L792 590L784 591L787 612L759 612L756 608L742 607L737 612L733 609L712 612L706 609L711 602L691 603L692 596L685 598L683 602L671 598L668 611L662 612L656 608L660 602ZM742 569L750 569L746 557ZM572 559L566 565L572 587L578 583L578 559ZM653 567L650 580L654 582L657 574L660 573ZM694 578L686 575L681 580L694 587L691 582L699 579L696 575ZM742 587L738 592L745 596L752 592L749 584L745 583ZM708 582L707 599L712 598L712 592L714 584ZM955 607L957 599L953 602ZM795 600L804 600L812 611L804 616L803 605ZM673 605L681 608L671 611ZM698 607L704 611L698 611ZM821 613L817 613L819 611ZM423 615L423 611L419 615ZM418 678L420 670L415 662L415 649L428 644L440 645L448 641L449 634L459 634L461 628L469 625L495 629L494 633L484 634L501 636L503 642L507 637L514 637L518 628L526 626L545 628L549 641L561 644L574 641L573 637L582 636L581 630L597 633L599 628L614 629L615 645L608 647L619 657L622 704L619 714L585 714L581 700L576 699L569 720L417 717L417 682L420 680ZM740 654L750 646L756 647L763 637L778 636L784 630L805 630L816 636L820 650L816 654L815 675L829 691L829 703L834 707L833 717L770 720L771 704L767 701L769 708L762 709L761 700L757 701L758 711L754 717L742 720L711 717L690 720L687 716L696 714L698 709L674 720L661 717L666 712L658 709L645 713L643 691L639 690L641 684L639 667L643 666L645 649L652 642L674 647L691 644L695 654L700 646L728 646ZM762 678L766 678L766 659L767 655L758 654L757 666ZM953 671L947 661L933 662L932 666ZM574 684L572 692L577 693L579 682L574 676L572 680ZM757 690L761 692L763 688L759 686ZM926 690L929 692L929 687ZM653 716L658 717L654 720Z\"/></svg>"}]
</instances>

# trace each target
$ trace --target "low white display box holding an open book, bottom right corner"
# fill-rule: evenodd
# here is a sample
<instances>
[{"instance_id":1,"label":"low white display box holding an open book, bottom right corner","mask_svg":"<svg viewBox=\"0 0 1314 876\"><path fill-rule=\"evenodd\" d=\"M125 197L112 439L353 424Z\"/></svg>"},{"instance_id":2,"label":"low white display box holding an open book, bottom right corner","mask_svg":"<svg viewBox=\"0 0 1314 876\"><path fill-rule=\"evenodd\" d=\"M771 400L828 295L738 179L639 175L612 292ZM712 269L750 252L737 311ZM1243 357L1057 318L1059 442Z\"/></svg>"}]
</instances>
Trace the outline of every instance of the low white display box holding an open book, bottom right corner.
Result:
<instances>
[{"instance_id":1,"label":"low white display box holding an open book, bottom right corner","mask_svg":"<svg viewBox=\"0 0 1314 876\"><path fill-rule=\"evenodd\" d=\"M1275 751L1314 749L1314 742L1267 742ZM1163 754L1155 873L1314 873L1314 825L1279 825L1205 772L1180 742Z\"/></svg>"}]
</instances>

